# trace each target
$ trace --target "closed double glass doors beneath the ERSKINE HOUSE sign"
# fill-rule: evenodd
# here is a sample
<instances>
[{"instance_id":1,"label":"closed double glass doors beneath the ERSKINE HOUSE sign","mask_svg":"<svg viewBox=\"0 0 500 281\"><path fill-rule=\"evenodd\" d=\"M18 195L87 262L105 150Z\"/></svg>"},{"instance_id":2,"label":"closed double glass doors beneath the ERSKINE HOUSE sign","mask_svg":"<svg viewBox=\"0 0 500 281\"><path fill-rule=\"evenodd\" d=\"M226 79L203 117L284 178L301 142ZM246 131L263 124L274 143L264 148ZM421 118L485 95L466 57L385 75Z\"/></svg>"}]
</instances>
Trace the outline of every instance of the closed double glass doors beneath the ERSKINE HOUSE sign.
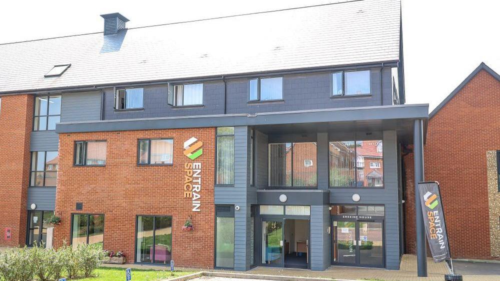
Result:
<instances>
[{"instance_id":1,"label":"closed double glass doors beneath the ERSKINE HOUSE sign","mask_svg":"<svg viewBox=\"0 0 500 281\"><path fill-rule=\"evenodd\" d=\"M333 221L333 263L384 266L382 221Z\"/></svg>"}]
</instances>

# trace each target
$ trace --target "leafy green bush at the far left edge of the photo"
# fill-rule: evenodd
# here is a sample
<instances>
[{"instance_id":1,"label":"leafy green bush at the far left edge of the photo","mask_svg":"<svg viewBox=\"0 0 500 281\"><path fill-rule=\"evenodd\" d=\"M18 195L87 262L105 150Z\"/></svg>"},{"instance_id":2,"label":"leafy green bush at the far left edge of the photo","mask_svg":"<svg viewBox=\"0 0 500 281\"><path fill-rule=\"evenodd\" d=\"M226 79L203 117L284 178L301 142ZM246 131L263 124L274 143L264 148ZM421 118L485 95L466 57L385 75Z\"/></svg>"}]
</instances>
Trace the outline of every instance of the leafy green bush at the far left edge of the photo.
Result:
<instances>
[{"instance_id":1,"label":"leafy green bush at the far left edge of the photo","mask_svg":"<svg viewBox=\"0 0 500 281\"><path fill-rule=\"evenodd\" d=\"M0 279L5 281L30 281L34 275L31 251L27 247L0 252Z\"/></svg>"}]
</instances>

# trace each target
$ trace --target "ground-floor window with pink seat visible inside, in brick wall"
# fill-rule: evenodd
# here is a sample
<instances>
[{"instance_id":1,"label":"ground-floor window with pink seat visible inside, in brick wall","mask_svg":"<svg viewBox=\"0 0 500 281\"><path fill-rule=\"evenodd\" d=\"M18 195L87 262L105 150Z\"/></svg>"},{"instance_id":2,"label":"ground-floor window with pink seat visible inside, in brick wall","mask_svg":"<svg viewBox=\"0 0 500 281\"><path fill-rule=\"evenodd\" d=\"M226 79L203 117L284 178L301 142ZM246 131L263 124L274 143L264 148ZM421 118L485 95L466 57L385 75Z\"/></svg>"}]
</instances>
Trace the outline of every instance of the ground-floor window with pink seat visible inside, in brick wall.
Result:
<instances>
[{"instance_id":1,"label":"ground-floor window with pink seat visible inside, in brick wall","mask_svg":"<svg viewBox=\"0 0 500 281\"><path fill-rule=\"evenodd\" d=\"M136 262L167 264L172 259L172 216L137 216Z\"/></svg>"}]
</instances>

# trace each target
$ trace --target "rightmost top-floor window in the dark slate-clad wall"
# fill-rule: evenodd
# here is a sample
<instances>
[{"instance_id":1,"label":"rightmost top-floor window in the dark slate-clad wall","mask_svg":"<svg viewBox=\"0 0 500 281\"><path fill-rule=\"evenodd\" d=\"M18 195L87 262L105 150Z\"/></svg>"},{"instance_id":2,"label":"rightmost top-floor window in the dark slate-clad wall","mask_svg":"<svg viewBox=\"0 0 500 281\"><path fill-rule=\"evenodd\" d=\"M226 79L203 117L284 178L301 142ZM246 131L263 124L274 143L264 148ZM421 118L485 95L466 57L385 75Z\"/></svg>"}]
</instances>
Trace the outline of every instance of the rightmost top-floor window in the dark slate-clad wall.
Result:
<instances>
[{"instance_id":1,"label":"rightmost top-floor window in the dark slate-clad wall","mask_svg":"<svg viewBox=\"0 0 500 281\"><path fill-rule=\"evenodd\" d=\"M370 70L332 73L332 96L370 93Z\"/></svg>"}]
</instances>

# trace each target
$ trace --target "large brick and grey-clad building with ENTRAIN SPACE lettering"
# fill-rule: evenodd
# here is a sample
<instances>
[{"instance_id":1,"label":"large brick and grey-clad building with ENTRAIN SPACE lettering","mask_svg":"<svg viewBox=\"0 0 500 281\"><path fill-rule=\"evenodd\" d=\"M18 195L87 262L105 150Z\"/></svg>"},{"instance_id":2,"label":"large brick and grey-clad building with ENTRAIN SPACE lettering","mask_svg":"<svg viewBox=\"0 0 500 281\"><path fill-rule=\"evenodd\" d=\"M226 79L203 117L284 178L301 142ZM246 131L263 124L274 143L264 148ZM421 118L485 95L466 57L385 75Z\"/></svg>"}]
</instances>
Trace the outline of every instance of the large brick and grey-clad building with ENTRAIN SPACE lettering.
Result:
<instances>
[{"instance_id":1,"label":"large brick and grey-clad building with ENTRAIN SPACE lettering","mask_svg":"<svg viewBox=\"0 0 500 281\"><path fill-rule=\"evenodd\" d=\"M103 18L0 45L0 244L46 239L55 212L56 246L128 262L399 267L428 105L404 104L398 0Z\"/></svg>"}]
</instances>

